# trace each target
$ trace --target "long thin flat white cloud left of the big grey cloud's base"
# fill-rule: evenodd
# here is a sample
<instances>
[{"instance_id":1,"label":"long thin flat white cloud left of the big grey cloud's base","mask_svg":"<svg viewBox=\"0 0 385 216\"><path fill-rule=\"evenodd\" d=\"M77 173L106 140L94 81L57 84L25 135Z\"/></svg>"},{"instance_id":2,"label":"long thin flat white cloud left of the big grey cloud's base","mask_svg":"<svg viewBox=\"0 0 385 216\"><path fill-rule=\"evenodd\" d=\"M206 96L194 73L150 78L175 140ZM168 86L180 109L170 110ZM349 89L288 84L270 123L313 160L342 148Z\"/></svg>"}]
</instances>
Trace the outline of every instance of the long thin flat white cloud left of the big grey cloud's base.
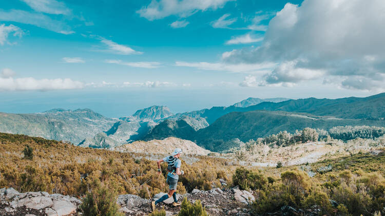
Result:
<instances>
[{"instance_id":1,"label":"long thin flat white cloud left of the big grey cloud's base","mask_svg":"<svg viewBox=\"0 0 385 216\"><path fill-rule=\"evenodd\" d=\"M228 71L228 72L265 72L267 69L275 67L275 63L262 62L257 64L228 64L223 62L210 63L210 62L185 62L177 61L176 66L180 67L191 67L198 68L200 70L211 70L211 71Z\"/></svg>"}]
</instances>

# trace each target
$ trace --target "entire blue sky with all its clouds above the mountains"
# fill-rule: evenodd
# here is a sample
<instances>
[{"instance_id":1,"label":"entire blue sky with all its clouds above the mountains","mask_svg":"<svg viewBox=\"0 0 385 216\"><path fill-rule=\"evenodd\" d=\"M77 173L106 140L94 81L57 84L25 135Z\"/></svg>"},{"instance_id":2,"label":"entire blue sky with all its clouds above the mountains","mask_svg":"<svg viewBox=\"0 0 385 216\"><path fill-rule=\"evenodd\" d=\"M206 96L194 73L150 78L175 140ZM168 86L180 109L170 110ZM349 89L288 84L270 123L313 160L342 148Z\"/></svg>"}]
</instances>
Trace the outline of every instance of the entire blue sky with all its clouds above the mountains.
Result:
<instances>
[{"instance_id":1,"label":"entire blue sky with all its clouds above the mountains","mask_svg":"<svg viewBox=\"0 0 385 216\"><path fill-rule=\"evenodd\" d=\"M385 92L383 0L0 0L0 112Z\"/></svg>"}]
</instances>

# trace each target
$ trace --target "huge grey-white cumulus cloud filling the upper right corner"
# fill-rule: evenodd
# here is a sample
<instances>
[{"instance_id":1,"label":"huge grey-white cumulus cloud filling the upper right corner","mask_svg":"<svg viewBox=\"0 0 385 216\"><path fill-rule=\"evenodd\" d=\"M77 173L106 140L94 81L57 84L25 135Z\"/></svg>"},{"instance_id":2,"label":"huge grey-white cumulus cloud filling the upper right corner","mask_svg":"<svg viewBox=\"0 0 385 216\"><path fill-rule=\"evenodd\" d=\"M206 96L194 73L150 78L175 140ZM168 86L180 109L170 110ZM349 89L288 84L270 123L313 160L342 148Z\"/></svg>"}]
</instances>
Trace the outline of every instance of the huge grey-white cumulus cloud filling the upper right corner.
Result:
<instances>
[{"instance_id":1,"label":"huge grey-white cumulus cloud filling the upper right corner","mask_svg":"<svg viewBox=\"0 0 385 216\"><path fill-rule=\"evenodd\" d=\"M385 73L385 16L379 15L383 11L385 2L381 0L304 1L301 6L287 3L269 22L261 46L233 50L222 57L230 63L297 62L291 68L294 72L285 73L322 71L325 76L347 79L360 76L365 79L341 86L359 89L361 84L370 89L365 80L374 81L373 77ZM291 77L285 78L278 71L265 76L267 83L275 77Z\"/></svg>"}]
</instances>

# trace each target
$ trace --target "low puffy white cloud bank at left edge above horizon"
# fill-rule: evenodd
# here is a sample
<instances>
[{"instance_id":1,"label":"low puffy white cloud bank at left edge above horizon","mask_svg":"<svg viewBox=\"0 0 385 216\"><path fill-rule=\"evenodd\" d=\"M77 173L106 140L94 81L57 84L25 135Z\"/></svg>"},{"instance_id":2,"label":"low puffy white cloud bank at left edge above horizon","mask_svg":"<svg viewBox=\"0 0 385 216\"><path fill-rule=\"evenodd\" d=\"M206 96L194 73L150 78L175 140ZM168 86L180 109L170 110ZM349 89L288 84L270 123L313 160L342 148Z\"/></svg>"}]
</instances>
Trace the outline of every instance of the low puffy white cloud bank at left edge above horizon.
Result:
<instances>
[{"instance_id":1,"label":"low puffy white cloud bank at left edge above horizon","mask_svg":"<svg viewBox=\"0 0 385 216\"><path fill-rule=\"evenodd\" d=\"M13 78L14 72L3 69L0 77L0 91L26 91L26 90L69 90L84 88L83 82L72 79L35 79L32 77Z\"/></svg>"}]
</instances>

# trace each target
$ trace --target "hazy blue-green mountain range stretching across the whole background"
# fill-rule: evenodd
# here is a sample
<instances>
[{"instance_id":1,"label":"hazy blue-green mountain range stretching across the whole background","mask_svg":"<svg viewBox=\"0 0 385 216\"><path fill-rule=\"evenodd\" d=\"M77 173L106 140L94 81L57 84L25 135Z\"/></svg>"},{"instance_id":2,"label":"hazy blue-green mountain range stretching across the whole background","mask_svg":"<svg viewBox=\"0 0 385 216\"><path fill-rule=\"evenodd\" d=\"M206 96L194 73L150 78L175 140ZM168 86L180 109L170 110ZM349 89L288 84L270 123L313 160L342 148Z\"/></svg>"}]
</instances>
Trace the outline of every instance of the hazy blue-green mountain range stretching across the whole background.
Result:
<instances>
[{"instance_id":1,"label":"hazy blue-green mountain range stretching across the whole background","mask_svg":"<svg viewBox=\"0 0 385 216\"><path fill-rule=\"evenodd\" d=\"M177 137L209 150L303 127L384 126L385 93L339 99L247 98L232 106L173 114L150 106L132 116L107 118L89 109L54 109L34 114L0 113L0 132L65 140L83 147L108 148L137 140Z\"/></svg>"}]
</instances>

